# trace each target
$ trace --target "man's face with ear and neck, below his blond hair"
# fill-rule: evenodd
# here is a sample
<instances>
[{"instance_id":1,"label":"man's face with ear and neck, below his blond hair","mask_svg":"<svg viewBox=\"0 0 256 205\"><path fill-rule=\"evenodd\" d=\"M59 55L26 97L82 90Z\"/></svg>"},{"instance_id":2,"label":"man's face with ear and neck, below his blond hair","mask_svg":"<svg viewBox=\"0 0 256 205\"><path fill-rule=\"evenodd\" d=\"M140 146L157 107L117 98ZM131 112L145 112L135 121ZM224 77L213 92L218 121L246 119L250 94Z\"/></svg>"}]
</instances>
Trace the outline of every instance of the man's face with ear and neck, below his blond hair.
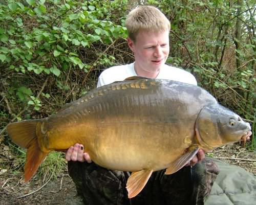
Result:
<instances>
[{"instance_id":1,"label":"man's face with ear and neck, below his blond hair","mask_svg":"<svg viewBox=\"0 0 256 205\"><path fill-rule=\"evenodd\" d=\"M136 42L127 39L135 55L135 71L144 77L157 77L169 55L169 32L140 31Z\"/></svg>"}]
</instances>

